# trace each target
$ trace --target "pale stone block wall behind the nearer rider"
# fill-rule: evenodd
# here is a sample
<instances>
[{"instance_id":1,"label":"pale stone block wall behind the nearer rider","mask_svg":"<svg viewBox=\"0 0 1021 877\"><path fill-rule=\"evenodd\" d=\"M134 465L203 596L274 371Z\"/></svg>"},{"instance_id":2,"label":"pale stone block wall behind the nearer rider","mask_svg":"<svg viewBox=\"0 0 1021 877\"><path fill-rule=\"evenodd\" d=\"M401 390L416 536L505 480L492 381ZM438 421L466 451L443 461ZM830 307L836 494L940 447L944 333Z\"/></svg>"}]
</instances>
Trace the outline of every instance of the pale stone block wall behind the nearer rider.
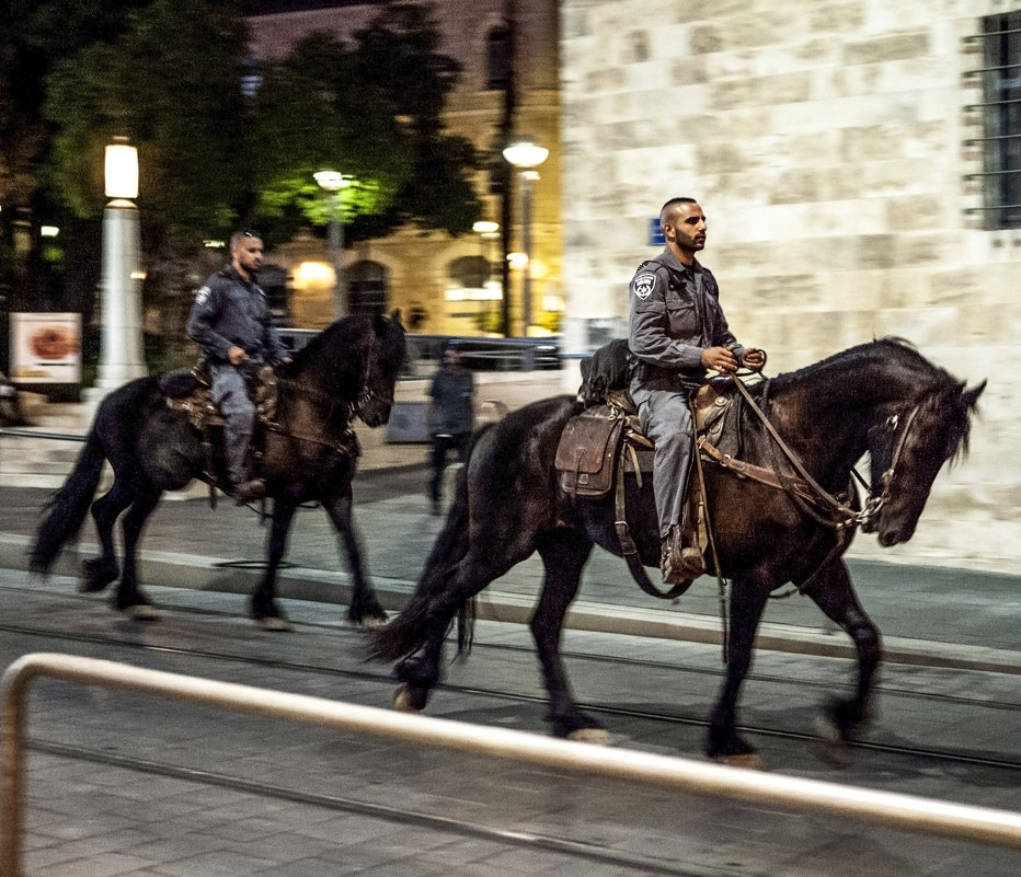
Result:
<instances>
[{"instance_id":1,"label":"pale stone block wall behind the nearer rider","mask_svg":"<svg viewBox=\"0 0 1021 877\"><path fill-rule=\"evenodd\" d=\"M1021 559L1021 229L984 231L982 67L997 0L563 0L565 347L623 331L667 197L699 198L735 333L787 371L903 336L970 383L970 458L884 557ZM874 540L859 539L859 553Z\"/></svg>"}]
</instances>

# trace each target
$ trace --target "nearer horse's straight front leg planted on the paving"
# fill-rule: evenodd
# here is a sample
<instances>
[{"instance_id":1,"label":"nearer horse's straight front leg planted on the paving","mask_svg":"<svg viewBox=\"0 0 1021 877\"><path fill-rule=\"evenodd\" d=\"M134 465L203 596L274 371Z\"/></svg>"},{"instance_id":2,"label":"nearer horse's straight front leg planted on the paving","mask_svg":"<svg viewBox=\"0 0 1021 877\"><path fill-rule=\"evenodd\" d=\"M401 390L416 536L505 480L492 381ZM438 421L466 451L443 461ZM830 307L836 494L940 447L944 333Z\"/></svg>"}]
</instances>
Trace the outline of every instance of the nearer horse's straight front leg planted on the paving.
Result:
<instances>
[{"instance_id":1,"label":"nearer horse's straight front leg planted on the paving","mask_svg":"<svg viewBox=\"0 0 1021 877\"><path fill-rule=\"evenodd\" d=\"M761 760L737 732L737 699L752 668L755 631L766 608L769 585L754 576L735 578L731 587L731 637L726 678L709 724L705 753L715 761L743 768L761 768Z\"/></svg>"}]
</instances>

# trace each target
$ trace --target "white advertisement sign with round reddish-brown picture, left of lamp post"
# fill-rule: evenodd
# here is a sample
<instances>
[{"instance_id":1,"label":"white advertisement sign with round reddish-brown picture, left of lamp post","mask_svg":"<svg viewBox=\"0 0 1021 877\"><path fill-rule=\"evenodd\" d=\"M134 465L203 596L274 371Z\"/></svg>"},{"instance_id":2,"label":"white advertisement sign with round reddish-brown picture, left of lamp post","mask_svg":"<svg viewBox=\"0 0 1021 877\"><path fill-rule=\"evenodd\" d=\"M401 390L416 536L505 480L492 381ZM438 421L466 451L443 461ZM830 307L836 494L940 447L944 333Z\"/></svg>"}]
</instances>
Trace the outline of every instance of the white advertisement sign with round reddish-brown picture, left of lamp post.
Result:
<instances>
[{"instance_id":1,"label":"white advertisement sign with round reddish-brown picture, left of lamp post","mask_svg":"<svg viewBox=\"0 0 1021 877\"><path fill-rule=\"evenodd\" d=\"M11 381L81 383L81 314L12 313Z\"/></svg>"}]
</instances>

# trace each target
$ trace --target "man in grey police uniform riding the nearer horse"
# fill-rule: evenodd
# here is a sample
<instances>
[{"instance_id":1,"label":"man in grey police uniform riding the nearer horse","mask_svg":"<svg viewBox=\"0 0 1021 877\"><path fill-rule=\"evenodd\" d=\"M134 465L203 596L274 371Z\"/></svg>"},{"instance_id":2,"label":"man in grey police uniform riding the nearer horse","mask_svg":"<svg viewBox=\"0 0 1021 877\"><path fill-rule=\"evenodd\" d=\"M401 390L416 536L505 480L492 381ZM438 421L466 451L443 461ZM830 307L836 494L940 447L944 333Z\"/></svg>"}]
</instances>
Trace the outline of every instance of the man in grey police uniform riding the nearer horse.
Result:
<instances>
[{"instance_id":1,"label":"man in grey police uniform riding the nearer horse","mask_svg":"<svg viewBox=\"0 0 1021 877\"><path fill-rule=\"evenodd\" d=\"M705 215L693 198L670 198L659 211L666 249L631 280L628 346L636 359L631 396L655 443L653 489L662 539L663 580L691 581L705 572L699 549L682 544L685 493L693 429L688 396L708 370L759 371L766 354L744 348L720 308L715 278L696 259L705 246Z\"/></svg>"}]
</instances>

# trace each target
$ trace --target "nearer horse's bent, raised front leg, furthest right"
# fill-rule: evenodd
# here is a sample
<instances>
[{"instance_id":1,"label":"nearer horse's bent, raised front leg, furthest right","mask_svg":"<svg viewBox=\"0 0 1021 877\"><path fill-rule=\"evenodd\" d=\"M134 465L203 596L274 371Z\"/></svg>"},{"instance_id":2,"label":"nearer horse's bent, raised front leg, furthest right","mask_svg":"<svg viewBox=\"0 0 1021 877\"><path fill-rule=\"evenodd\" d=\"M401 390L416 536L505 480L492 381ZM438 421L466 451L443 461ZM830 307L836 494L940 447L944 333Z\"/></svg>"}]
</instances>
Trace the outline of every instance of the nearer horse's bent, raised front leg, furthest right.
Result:
<instances>
[{"instance_id":1,"label":"nearer horse's bent, raised front leg, furthest right","mask_svg":"<svg viewBox=\"0 0 1021 877\"><path fill-rule=\"evenodd\" d=\"M854 642L858 650L858 683L851 697L835 697L826 708L821 729L831 742L847 743L868 720L872 679L879 667L882 644L879 628L858 602L847 564L836 559L819 569L803 590Z\"/></svg>"}]
</instances>

